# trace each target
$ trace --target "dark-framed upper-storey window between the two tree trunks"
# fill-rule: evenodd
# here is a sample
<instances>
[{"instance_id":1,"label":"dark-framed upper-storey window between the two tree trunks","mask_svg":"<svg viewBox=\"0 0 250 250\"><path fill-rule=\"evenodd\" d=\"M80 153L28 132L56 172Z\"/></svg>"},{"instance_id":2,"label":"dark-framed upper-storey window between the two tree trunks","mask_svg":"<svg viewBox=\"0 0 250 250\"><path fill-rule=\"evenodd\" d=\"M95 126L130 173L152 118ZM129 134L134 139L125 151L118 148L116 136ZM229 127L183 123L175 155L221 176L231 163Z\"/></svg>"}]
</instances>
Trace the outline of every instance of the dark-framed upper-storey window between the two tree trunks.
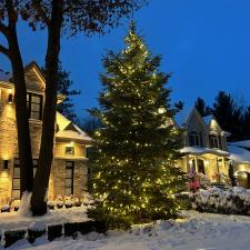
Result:
<instances>
[{"instance_id":1,"label":"dark-framed upper-storey window between the two tree trunks","mask_svg":"<svg viewBox=\"0 0 250 250\"><path fill-rule=\"evenodd\" d=\"M37 93L27 93L27 109L29 118L41 120L42 116L42 96Z\"/></svg>"}]
</instances>

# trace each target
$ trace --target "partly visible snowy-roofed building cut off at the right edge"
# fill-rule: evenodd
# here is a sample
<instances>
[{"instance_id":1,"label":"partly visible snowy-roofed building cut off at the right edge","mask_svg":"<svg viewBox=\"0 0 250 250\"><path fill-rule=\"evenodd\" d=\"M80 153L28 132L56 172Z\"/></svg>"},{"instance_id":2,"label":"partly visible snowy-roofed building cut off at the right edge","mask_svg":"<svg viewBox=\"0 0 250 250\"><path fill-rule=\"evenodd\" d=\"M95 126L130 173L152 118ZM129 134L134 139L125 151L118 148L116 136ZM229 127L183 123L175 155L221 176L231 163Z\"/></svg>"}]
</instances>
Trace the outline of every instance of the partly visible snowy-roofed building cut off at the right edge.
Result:
<instances>
[{"instance_id":1,"label":"partly visible snowy-roofed building cut off at the right edge","mask_svg":"<svg viewBox=\"0 0 250 250\"><path fill-rule=\"evenodd\" d=\"M234 174L239 184L250 188L250 140L230 142L230 160L233 164Z\"/></svg>"}]
</instances>

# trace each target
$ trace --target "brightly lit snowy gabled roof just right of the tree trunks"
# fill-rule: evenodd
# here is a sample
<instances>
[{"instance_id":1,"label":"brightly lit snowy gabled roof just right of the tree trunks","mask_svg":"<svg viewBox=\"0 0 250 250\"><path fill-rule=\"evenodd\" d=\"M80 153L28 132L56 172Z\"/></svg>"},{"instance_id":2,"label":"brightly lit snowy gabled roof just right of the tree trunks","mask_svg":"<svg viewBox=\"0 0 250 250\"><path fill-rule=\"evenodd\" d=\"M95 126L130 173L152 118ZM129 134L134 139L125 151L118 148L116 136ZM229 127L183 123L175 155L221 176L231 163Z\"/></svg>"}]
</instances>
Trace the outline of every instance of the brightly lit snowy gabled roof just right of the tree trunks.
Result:
<instances>
[{"instance_id":1,"label":"brightly lit snowy gabled roof just right of the tree trunks","mask_svg":"<svg viewBox=\"0 0 250 250\"><path fill-rule=\"evenodd\" d=\"M57 124L59 131L56 133L56 138L58 139L79 140L87 142L92 141L92 139L87 136L84 131L82 131L79 127L73 124L72 121L70 121L59 112L57 112Z\"/></svg>"}]
</instances>

